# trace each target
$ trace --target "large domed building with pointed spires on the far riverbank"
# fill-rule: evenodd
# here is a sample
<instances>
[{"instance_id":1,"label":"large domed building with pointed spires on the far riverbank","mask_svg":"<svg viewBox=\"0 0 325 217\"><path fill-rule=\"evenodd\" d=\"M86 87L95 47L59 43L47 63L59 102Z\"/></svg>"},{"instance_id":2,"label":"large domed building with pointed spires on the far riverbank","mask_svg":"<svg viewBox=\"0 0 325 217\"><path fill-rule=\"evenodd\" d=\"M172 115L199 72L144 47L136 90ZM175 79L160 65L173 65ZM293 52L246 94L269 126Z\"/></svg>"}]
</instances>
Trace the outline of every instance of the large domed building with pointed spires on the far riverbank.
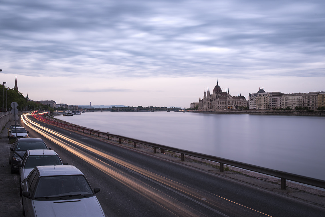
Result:
<instances>
[{"instance_id":1,"label":"large domed building with pointed spires on the far riverbank","mask_svg":"<svg viewBox=\"0 0 325 217\"><path fill-rule=\"evenodd\" d=\"M228 92L222 92L222 89L218 85L214 87L212 94L210 94L209 88L207 92L204 89L203 99L199 99L198 110L202 111L218 111L224 109L236 109L244 108L247 106L246 98L244 96L231 96Z\"/></svg>"}]
</instances>

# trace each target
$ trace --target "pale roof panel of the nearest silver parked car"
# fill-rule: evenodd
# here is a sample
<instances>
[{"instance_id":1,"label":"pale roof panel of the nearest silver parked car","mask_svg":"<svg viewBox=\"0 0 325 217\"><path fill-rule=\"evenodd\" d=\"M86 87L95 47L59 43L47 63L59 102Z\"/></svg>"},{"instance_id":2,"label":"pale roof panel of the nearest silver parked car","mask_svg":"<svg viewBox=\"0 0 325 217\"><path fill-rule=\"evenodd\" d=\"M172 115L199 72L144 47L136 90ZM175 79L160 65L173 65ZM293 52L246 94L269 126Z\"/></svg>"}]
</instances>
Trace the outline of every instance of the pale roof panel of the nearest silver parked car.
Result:
<instances>
[{"instance_id":1,"label":"pale roof panel of the nearest silver parked car","mask_svg":"<svg viewBox=\"0 0 325 217\"><path fill-rule=\"evenodd\" d=\"M84 175L72 165L37 166L35 169L41 176Z\"/></svg>"}]
</instances>

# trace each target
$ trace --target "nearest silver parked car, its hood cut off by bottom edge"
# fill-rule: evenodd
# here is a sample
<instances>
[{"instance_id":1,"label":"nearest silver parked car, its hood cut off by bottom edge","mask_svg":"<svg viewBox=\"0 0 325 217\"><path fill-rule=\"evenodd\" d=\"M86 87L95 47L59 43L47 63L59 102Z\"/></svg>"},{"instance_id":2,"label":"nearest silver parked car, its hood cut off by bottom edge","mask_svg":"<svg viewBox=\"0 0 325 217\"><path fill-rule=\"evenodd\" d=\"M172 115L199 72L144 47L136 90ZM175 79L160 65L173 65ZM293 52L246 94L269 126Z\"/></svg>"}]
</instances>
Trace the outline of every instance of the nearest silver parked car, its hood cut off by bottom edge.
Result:
<instances>
[{"instance_id":1,"label":"nearest silver parked car, its hood cut off by bottom edge","mask_svg":"<svg viewBox=\"0 0 325 217\"><path fill-rule=\"evenodd\" d=\"M84 174L71 165L38 166L23 180L26 216L105 216Z\"/></svg>"}]
</instances>

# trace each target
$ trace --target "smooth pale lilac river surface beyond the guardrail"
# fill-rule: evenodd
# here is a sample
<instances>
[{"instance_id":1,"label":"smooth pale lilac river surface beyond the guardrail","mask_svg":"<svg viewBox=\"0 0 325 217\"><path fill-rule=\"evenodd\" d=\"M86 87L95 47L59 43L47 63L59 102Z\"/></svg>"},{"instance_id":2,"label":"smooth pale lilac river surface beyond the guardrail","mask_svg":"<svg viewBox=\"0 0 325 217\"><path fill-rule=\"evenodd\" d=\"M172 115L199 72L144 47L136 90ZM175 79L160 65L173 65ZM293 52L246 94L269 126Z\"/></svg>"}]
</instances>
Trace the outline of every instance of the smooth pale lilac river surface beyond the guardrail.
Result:
<instances>
[{"instance_id":1,"label":"smooth pale lilac river surface beyond the guardrail","mask_svg":"<svg viewBox=\"0 0 325 217\"><path fill-rule=\"evenodd\" d=\"M325 117L90 112L57 118L102 132L325 180Z\"/></svg>"}]
</instances>

